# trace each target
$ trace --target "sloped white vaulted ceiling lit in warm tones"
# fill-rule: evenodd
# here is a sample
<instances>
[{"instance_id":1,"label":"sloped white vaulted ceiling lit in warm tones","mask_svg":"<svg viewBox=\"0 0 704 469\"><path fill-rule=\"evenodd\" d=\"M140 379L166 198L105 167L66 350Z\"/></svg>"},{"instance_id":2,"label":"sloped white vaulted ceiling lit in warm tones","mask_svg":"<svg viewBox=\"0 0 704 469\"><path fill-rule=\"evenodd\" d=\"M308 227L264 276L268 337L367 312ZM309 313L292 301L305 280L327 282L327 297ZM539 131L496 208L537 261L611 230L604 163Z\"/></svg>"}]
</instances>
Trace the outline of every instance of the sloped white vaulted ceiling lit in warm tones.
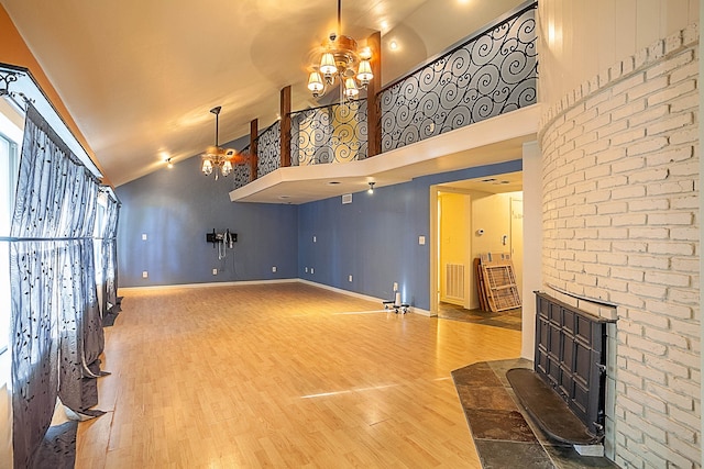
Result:
<instances>
[{"instance_id":1,"label":"sloped white vaulted ceiling lit in warm tones","mask_svg":"<svg viewBox=\"0 0 704 469\"><path fill-rule=\"evenodd\" d=\"M317 105L307 67L337 16L334 0L0 3L114 186L211 145L216 105L221 143L249 134L253 119L260 129L273 123L288 85L294 110ZM519 3L348 0L342 31L359 40L382 32L382 81L389 82Z\"/></svg>"}]
</instances>

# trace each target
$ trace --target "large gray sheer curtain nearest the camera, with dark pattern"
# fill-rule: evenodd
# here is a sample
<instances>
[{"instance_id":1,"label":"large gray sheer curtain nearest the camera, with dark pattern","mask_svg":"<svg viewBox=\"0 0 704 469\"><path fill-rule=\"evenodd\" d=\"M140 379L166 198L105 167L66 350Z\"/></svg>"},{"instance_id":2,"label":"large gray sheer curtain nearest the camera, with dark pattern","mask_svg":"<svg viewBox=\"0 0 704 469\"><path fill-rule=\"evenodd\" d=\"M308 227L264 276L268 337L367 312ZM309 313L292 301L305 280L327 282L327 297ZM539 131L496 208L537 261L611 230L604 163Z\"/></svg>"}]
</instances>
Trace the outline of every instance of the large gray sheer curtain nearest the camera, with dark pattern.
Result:
<instances>
[{"instance_id":1,"label":"large gray sheer curtain nearest the camera, with dark pattern","mask_svg":"<svg viewBox=\"0 0 704 469\"><path fill-rule=\"evenodd\" d=\"M11 227L14 467L32 467L56 395L97 403L103 333L92 231L98 181L28 105Z\"/></svg>"}]
</instances>

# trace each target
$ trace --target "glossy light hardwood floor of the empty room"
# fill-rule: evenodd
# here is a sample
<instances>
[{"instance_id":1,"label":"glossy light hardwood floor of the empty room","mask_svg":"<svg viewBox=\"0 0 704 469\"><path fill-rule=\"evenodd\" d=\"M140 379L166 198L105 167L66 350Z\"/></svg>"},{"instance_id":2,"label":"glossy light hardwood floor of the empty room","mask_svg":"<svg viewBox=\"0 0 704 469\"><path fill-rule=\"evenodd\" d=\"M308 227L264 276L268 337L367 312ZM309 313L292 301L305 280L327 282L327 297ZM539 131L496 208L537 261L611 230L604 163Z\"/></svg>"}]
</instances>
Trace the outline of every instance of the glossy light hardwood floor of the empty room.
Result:
<instances>
[{"instance_id":1,"label":"glossy light hardwood floor of the empty room","mask_svg":"<svg viewBox=\"0 0 704 469\"><path fill-rule=\"evenodd\" d=\"M520 350L298 282L121 294L77 468L480 467L450 372Z\"/></svg>"}]
</instances>

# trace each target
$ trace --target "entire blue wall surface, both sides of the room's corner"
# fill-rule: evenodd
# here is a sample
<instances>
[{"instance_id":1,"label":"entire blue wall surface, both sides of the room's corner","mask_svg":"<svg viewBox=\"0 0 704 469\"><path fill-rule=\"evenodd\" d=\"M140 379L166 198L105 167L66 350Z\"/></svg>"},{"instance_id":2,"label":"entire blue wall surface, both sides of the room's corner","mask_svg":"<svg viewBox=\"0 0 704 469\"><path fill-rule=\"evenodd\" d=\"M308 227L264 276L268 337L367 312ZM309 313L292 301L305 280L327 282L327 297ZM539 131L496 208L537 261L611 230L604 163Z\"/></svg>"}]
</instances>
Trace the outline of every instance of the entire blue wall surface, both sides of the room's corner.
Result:
<instances>
[{"instance_id":1,"label":"entire blue wall surface, both sides of the room's corner","mask_svg":"<svg viewBox=\"0 0 704 469\"><path fill-rule=\"evenodd\" d=\"M391 300L398 282L405 302L429 310L430 186L519 170L514 160L297 206L232 203L232 179L189 158L117 189L120 287L301 278ZM224 259L206 242L212 228L238 234Z\"/></svg>"}]
</instances>

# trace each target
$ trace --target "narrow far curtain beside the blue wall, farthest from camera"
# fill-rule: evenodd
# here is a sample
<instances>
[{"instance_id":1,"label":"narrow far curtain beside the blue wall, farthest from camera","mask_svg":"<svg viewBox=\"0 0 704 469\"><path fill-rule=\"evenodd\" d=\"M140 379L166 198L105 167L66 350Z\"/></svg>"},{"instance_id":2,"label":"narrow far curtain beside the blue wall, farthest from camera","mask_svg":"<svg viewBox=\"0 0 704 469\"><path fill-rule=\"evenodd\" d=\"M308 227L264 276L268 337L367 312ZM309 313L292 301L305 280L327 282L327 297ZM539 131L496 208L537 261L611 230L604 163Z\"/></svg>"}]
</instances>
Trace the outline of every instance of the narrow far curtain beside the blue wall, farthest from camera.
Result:
<instances>
[{"instance_id":1,"label":"narrow far curtain beside the blue wall, farthest from camera","mask_svg":"<svg viewBox=\"0 0 704 469\"><path fill-rule=\"evenodd\" d=\"M106 222L99 234L102 243L102 325L111 326L121 311L118 297L118 220L120 202L110 192L106 206Z\"/></svg>"}]
</instances>

